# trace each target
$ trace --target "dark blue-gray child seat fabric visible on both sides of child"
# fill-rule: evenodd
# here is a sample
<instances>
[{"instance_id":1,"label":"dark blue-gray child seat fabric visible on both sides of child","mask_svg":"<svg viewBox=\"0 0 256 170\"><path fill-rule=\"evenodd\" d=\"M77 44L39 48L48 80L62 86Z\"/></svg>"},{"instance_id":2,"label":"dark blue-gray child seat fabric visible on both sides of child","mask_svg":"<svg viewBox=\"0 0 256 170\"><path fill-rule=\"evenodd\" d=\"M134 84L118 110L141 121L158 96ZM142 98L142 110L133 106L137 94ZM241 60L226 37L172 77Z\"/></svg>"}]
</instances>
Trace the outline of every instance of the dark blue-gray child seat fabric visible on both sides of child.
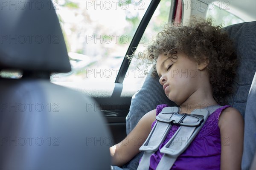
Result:
<instances>
[{"instance_id":1,"label":"dark blue-gray child seat fabric visible on both sides of child","mask_svg":"<svg viewBox=\"0 0 256 170\"><path fill-rule=\"evenodd\" d=\"M247 96L256 71L256 22L240 23L224 28L230 39L239 59L237 75L234 79L233 94L227 96L228 105L238 109L242 116L245 114ZM127 134L137 125L140 118L156 108L159 104L175 104L163 92L163 88L157 78L147 76L143 87L133 96L130 112L126 118ZM139 153L128 164L123 166L124 170L135 170L143 153ZM119 167L113 167L120 170Z\"/></svg>"}]
</instances>

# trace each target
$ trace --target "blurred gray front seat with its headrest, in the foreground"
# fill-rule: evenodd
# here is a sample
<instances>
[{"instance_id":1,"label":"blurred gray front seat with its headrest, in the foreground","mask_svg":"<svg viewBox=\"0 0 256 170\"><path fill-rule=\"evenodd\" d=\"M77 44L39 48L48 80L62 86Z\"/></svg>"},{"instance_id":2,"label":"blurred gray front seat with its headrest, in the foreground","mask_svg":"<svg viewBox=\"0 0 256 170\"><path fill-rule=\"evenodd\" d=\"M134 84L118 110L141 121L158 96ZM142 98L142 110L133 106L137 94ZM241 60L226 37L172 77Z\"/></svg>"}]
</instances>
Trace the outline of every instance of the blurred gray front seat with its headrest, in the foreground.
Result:
<instances>
[{"instance_id":1,"label":"blurred gray front seat with its headrest, in the foreground","mask_svg":"<svg viewBox=\"0 0 256 170\"><path fill-rule=\"evenodd\" d=\"M96 102L49 80L51 72L70 71L70 63L52 1L37 2L41 9L0 10L0 70L24 71L20 79L0 78L0 169L111 169L111 135L91 107ZM56 35L58 43L16 43L15 35L27 34Z\"/></svg>"}]
</instances>

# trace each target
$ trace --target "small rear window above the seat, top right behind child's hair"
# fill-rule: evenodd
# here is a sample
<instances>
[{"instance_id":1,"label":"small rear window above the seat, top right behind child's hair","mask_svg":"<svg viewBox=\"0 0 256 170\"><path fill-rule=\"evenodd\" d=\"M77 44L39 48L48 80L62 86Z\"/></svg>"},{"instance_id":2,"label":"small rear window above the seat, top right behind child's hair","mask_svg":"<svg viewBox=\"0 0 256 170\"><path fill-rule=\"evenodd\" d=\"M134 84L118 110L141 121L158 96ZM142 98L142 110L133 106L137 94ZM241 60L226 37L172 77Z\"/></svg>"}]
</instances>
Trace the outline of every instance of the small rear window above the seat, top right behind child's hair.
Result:
<instances>
[{"instance_id":1,"label":"small rear window above the seat, top right behind child's hair","mask_svg":"<svg viewBox=\"0 0 256 170\"><path fill-rule=\"evenodd\" d=\"M244 22L244 20L230 12L230 3L228 1L225 1L224 3L218 2L216 5L209 7L207 17L211 16L215 19L215 25L222 24L224 27Z\"/></svg>"}]
</instances>

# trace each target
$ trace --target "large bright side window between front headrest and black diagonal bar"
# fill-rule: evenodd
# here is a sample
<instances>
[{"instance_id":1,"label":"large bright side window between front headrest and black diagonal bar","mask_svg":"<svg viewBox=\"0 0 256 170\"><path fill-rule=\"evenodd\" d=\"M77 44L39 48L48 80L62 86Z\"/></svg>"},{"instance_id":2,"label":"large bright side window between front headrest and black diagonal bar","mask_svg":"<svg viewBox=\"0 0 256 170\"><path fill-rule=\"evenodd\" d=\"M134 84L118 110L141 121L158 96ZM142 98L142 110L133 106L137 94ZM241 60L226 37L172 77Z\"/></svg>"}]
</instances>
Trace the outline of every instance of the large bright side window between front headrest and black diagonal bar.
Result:
<instances>
[{"instance_id":1,"label":"large bright side window between front headrest and black diagonal bar","mask_svg":"<svg viewBox=\"0 0 256 170\"><path fill-rule=\"evenodd\" d=\"M150 0L52 0L72 71L51 81L114 82Z\"/></svg>"}]
</instances>

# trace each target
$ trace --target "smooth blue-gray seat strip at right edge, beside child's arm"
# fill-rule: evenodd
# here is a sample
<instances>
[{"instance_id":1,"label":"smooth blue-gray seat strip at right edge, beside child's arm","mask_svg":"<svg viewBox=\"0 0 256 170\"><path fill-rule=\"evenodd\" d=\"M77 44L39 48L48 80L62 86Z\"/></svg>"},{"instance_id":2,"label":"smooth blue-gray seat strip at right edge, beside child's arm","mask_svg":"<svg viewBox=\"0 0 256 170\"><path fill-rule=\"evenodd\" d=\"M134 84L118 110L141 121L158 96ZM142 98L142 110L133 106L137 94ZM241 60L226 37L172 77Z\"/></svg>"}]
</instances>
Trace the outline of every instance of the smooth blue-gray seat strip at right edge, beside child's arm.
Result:
<instances>
[{"instance_id":1,"label":"smooth blue-gray seat strip at right edge, beside child's arm","mask_svg":"<svg viewBox=\"0 0 256 170\"><path fill-rule=\"evenodd\" d=\"M249 91L245 112L242 170L249 170L253 157L256 156L256 72ZM256 169L255 165L251 169Z\"/></svg>"}]
</instances>

